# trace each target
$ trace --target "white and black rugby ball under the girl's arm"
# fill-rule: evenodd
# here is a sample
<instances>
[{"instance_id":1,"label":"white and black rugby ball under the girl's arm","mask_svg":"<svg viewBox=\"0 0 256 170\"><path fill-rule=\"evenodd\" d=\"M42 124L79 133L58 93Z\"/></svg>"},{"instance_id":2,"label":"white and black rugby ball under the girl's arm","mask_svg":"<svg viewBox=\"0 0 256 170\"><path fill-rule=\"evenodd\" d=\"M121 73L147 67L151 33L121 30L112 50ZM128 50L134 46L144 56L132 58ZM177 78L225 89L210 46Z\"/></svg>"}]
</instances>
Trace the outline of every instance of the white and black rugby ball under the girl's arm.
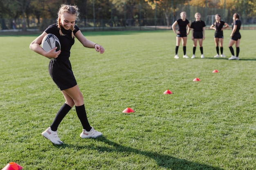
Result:
<instances>
[{"instance_id":1,"label":"white and black rugby ball under the girl's arm","mask_svg":"<svg viewBox=\"0 0 256 170\"><path fill-rule=\"evenodd\" d=\"M53 34L47 34L42 40L42 48L44 51L48 52L54 47L57 47L55 51L59 51L61 49L61 43L58 38ZM53 59L53 58L50 58Z\"/></svg>"}]
</instances>

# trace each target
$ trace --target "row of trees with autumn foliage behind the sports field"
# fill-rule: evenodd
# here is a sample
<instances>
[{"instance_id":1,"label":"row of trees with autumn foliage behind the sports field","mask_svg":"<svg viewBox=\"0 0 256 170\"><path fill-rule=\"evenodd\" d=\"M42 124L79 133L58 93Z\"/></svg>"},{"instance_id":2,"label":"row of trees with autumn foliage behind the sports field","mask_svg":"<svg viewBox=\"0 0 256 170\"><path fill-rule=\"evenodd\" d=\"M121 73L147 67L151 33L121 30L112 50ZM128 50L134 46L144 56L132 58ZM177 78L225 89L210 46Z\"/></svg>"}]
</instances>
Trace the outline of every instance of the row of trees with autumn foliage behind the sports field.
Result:
<instances>
[{"instance_id":1,"label":"row of trees with autumn foliage behind the sports field","mask_svg":"<svg viewBox=\"0 0 256 170\"><path fill-rule=\"evenodd\" d=\"M11 28L12 21L18 19L22 20L24 31L31 18L36 19L38 26L43 25L44 19L57 18L58 8L63 3L76 4L83 20L163 18L162 24L167 26L173 21L170 18L179 17L183 6L226 9L229 16L235 12L241 16L256 16L256 0L0 0L1 29Z\"/></svg>"}]
</instances>

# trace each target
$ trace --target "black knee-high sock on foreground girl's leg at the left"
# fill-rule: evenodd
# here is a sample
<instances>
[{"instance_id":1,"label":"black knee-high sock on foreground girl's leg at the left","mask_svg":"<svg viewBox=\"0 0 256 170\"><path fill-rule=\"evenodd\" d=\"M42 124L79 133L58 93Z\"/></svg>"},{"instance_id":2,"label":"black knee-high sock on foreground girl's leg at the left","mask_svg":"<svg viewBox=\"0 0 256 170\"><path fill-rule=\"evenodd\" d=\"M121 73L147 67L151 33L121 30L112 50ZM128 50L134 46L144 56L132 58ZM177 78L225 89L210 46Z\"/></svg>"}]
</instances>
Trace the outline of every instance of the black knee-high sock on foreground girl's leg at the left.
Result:
<instances>
[{"instance_id":1,"label":"black knee-high sock on foreground girl's leg at the left","mask_svg":"<svg viewBox=\"0 0 256 170\"><path fill-rule=\"evenodd\" d=\"M52 125L50 126L53 131L56 131L58 128L58 125L61 123L62 119L67 115L67 113L70 111L72 107L70 107L67 104L64 104L60 110L58 110L58 113L56 114L54 121L52 122Z\"/></svg>"}]
</instances>

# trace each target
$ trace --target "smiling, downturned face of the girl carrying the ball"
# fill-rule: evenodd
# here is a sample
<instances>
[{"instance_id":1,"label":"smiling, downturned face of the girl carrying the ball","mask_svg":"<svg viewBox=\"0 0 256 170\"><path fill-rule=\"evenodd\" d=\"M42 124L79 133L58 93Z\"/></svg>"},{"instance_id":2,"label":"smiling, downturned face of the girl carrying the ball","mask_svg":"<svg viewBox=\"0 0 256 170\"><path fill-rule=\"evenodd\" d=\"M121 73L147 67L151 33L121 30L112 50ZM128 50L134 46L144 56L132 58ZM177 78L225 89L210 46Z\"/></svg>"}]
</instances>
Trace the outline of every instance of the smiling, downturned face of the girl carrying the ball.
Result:
<instances>
[{"instance_id":1,"label":"smiling, downturned face of the girl carrying the ball","mask_svg":"<svg viewBox=\"0 0 256 170\"><path fill-rule=\"evenodd\" d=\"M60 19L61 19L61 26L63 26L65 30L69 30L70 28L74 27L76 23L75 14L64 12L60 15Z\"/></svg>"}]
</instances>

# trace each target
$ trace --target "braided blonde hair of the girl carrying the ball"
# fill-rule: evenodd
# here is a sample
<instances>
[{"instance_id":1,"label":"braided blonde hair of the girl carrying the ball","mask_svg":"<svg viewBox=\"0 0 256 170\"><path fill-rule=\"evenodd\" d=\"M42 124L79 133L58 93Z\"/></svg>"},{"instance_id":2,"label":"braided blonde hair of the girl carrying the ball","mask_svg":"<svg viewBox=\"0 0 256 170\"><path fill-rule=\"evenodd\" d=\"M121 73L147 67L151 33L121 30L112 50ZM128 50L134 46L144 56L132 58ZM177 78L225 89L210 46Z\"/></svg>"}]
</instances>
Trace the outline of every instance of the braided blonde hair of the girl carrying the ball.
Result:
<instances>
[{"instance_id":1,"label":"braided blonde hair of the girl carrying the ball","mask_svg":"<svg viewBox=\"0 0 256 170\"><path fill-rule=\"evenodd\" d=\"M59 29L59 32L60 32L60 35L64 36L64 34L62 33L61 31L61 14L63 14L64 12L67 12L69 14L72 14L72 15L76 15L76 18L79 17L79 8L76 6L76 5L67 5L67 4L61 4L61 7L60 9L58 10L58 29ZM74 26L72 26L70 28L70 30L72 31L72 38L74 38Z\"/></svg>"}]
</instances>

